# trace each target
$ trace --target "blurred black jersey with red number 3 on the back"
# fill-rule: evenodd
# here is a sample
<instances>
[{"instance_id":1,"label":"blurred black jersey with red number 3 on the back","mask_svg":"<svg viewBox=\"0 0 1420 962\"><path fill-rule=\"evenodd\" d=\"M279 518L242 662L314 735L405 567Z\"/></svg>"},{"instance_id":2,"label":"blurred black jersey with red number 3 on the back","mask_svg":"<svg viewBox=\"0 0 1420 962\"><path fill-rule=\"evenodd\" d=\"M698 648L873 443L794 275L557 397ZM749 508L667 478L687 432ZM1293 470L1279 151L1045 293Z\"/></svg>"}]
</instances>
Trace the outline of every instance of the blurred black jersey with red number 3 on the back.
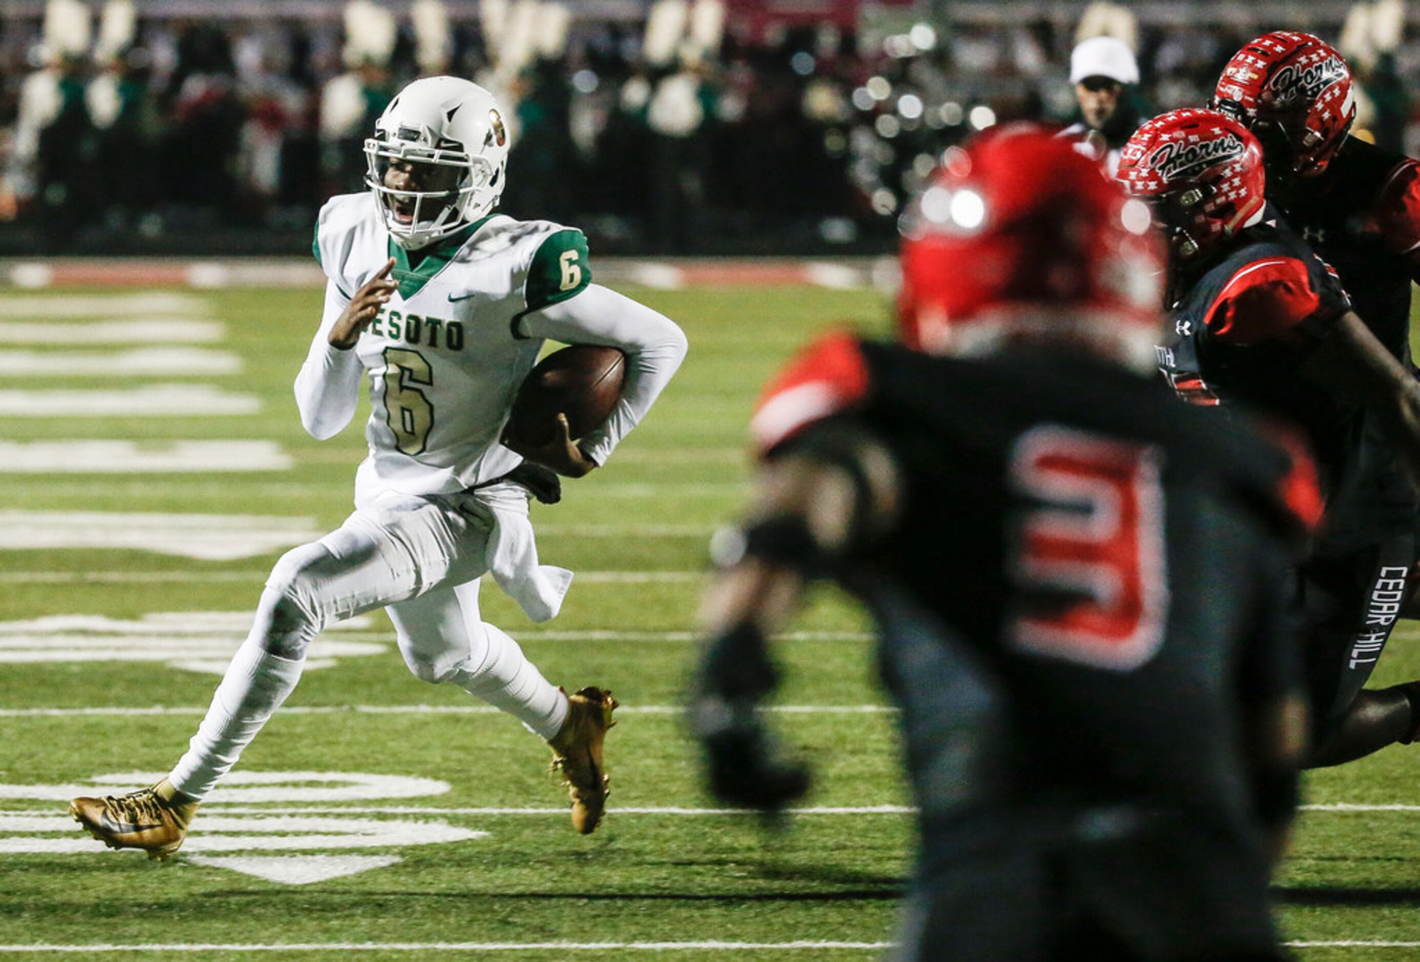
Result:
<instances>
[{"instance_id":1,"label":"blurred black jersey with red number 3 on the back","mask_svg":"<svg viewBox=\"0 0 1420 962\"><path fill-rule=\"evenodd\" d=\"M1278 606L1282 532L1319 514L1306 457L1102 362L947 359L848 336L774 382L751 429L772 455L845 424L892 451L906 497L838 580L885 644L937 631L961 653L953 678L888 677L914 780L943 786L923 793L927 817L976 793L1159 799L1250 831L1238 712L1295 685ZM943 761L950 719L974 697L922 702L973 671L977 695L1007 707L991 724L1008 736L957 770Z\"/></svg>"}]
</instances>

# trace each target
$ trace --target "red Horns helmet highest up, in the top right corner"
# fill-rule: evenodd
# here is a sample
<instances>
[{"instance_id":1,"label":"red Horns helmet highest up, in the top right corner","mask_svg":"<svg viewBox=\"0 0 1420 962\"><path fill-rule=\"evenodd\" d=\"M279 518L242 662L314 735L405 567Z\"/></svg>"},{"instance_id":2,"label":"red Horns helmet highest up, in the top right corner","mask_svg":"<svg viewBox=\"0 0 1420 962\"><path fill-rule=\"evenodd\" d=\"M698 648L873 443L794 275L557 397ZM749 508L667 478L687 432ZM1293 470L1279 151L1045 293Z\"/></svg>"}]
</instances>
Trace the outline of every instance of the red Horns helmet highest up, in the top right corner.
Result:
<instances>
[{"instance_id":1,"label":"red Horns helmet highest up, in the top right corner","mask_svg":"<svg viewBox=\"0 0 1420 962\"><path fill-rule=\"evenodd\" d=\"M1262 34L1235 52L1218 77L1213 108L1258 136L1275 172L1299 177L1326 169L1356 119L1346 61L1325 41L1291 30Z\"/></svg>"}]
</instances>

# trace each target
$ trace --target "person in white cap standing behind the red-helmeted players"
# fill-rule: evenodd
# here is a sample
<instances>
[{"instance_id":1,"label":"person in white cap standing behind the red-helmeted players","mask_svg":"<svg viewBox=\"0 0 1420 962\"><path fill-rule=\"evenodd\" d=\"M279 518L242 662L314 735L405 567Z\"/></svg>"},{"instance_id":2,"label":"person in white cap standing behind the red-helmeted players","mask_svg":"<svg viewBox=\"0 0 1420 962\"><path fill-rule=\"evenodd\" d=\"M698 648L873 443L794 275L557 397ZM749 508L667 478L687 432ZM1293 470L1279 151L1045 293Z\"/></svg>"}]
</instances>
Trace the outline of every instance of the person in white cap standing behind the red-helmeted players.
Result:
<instances>
[{"instance_id":1,"label":"person in white cap standing behind the red-helmeted players","mask_svg":"<svg viewBox=\"0 0 1420 962\"><path fill-rule=\"evenodd\" d=\"M1100 159L1113 175L1119 150L1140 119L1127 89L1139 82L1135 54L1115 37L1082 40L1069 55L1069 82L1075 85L1081 121L1061 136L1075 140L1081 153Z\"/></svg>"}]
</instances>

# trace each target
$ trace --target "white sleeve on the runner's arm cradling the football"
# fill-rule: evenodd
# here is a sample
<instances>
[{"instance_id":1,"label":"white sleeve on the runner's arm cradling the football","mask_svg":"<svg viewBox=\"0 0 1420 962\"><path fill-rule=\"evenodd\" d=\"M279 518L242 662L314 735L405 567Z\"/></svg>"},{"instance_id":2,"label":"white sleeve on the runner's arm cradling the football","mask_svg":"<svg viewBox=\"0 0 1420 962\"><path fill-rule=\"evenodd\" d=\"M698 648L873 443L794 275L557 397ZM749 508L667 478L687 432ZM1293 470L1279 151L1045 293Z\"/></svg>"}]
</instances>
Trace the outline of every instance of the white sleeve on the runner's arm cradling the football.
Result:
<instances>
[{"instance_id":1,"label":"white sleeve on the runner's arm cradling the football","mask_svg":"<svg viewBox=\"0 0 1420 962\"><path fill-rule=\"evenodd\" d=\"M621 440L640 423L686 356L686 335L674 321L601 284L589 284L577 297L527 314L518 332L625 352L626 380L621 400L611 417L582 438L582 451L596 464L605 464Z\"/></svg>"}]
</instances>

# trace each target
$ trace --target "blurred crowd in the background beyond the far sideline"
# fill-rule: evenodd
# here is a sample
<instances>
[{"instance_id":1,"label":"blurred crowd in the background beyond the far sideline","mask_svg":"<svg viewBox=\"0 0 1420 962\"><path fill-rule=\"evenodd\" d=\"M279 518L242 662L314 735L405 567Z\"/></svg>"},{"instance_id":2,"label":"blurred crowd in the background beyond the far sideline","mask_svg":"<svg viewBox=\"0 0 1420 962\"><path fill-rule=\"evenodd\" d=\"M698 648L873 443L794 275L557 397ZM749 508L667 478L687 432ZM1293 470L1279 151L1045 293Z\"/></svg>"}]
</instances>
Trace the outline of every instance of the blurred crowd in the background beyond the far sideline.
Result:
<instances>
[{"instance_id":1,"label":"blurred crowd in the background beyond the far sideline","mask_svg":"<svg viewBox=\"0 0 1420 962\"><path fill-rule=\"evenodd\" d=\"M1366 94L1358 126L1420 149L1406 94L1420 38L1403 13L1386 30L1353 17L1183 27L1112 4L1030 23L909 4L750 31L721 0L604 21L545 0L484 0L469 16L355 0L344 16L275 20L247 10L260 6L0 11L0 254L283 250L327 196L361 189L373 118L433 72L479 81L515 118L504 209L582 226L609 251L886 248L944 148L1005 119L1078 119L1069 52L1096 33L1137 52L1140 115L1203 104L1258 30L1340 38Z\"/></svg>"}]
</instances>

